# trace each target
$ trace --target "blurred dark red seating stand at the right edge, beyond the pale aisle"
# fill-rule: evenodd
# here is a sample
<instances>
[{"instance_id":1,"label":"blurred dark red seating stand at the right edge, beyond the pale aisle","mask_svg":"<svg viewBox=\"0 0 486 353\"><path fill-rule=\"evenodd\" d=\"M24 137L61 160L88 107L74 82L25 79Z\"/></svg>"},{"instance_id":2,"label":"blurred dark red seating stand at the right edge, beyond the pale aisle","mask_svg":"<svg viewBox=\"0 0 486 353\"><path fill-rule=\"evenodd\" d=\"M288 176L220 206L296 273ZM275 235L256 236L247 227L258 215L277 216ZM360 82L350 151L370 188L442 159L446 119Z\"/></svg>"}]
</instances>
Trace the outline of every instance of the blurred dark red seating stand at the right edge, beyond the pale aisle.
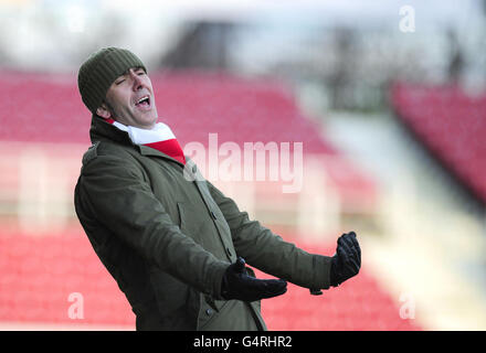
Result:
<instances>
[{"instance_id":1,"label":"blurred dark red seating stand at the right edge, beyond the pale aisle","mask_svg":"<svg viewBox=\"0 0 486 353\"><path fill-rule=\"evenodd\" d=\"M432 153L486 203L486 94L397 83L391 104Z\"/></svg>"}]
</instances>

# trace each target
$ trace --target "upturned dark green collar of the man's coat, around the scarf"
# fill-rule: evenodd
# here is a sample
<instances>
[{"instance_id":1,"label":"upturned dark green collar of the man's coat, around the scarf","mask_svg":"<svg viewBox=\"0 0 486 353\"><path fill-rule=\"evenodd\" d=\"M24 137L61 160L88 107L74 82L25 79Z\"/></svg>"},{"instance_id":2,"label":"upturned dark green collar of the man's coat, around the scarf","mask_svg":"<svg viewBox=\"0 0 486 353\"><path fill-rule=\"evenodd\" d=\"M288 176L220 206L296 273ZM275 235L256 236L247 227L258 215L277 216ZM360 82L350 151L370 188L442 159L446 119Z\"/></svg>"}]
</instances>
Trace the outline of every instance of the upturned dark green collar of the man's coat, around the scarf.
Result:
<instances>
[{"instance_id":1,"label":"upturned dark green collar of the man's coat, around the scarf","mask_svg":"<svg viewBox=\"0 0 486 353\"><path fill-rule=\"evenodd\" d=\"M102 118L99 118L96 115L93 115L93 117L92 117L92 125L89 128L89 137L91 137L92 143L95 143L96 141L109 141L109 142L120 143L124 146L130 146L133 148L136 148L140 152L140 154L142 154L142 156L165 158L165 159L168 159L172 162L176 162L176 163L184 167L184 164L182 164L177 159L173 159L172 157L170 157L166 153L162 153L151 147L135 145L134 142L131 142L130 137L128 136L128 132L122 131L120 129L116 128L112 124L106 122L105 120L103 120Z\"/></svg>"}]
</instances>

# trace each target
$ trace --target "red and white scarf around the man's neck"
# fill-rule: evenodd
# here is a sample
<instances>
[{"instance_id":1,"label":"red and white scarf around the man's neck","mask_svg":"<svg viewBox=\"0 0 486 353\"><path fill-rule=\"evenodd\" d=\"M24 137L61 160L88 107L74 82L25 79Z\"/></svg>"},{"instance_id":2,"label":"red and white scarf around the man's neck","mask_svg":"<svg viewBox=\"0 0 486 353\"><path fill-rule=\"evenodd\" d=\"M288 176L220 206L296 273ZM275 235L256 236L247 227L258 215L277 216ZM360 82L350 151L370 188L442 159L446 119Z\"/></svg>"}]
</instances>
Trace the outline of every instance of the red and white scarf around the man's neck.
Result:
<instances>
[{"instance_id":1,"label":"red and white scarf around the man's neck","mask_svg":"<svg viewBox=\"0 0 486 353\"><path fill-rule=\"evenodd\" d=\"M125 126L113 119L105 120L118 129L128 132L131 142L135 145L151 147L169 157L172 157L182 164L186 164L184 153L172 130L166 124L157 122L152 129L146 130L136 128L134 126Z\"/></svg>"}]
</instances>

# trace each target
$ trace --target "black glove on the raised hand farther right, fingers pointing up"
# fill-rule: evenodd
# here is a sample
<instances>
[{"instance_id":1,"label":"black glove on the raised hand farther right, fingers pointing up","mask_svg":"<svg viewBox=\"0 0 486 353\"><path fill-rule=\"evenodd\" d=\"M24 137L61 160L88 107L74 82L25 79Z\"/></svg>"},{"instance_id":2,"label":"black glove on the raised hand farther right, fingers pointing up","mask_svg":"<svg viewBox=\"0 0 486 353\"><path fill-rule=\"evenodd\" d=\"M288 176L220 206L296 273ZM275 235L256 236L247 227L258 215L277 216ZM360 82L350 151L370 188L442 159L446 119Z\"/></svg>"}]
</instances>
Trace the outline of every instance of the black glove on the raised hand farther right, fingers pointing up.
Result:
<instances>
[{"instance_id":1,"label":"black glove on the raised hand farther right, fingers pointing up","mask_svg":"<svg viewBox=\"0 0 486 353\"><path fill-rule=\"evenodd\" d=\"M330 265L330 285L337 287L345 280L358 275L361 268L361 249L356 233L342 234L338 238L336 255Z\"/></svg>"}]
</instances>

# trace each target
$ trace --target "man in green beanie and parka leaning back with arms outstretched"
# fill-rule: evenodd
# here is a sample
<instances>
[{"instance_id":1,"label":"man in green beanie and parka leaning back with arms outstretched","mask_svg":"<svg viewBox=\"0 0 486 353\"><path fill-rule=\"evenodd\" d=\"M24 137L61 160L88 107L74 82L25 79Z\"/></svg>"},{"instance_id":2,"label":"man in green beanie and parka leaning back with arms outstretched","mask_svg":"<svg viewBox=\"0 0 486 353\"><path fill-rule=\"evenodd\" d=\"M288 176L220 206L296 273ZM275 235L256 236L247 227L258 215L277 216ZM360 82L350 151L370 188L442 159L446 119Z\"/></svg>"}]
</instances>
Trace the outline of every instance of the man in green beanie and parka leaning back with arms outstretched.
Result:
<instances>
[{"instance_id":1,"label":"man in green beanie and parka leaning back with arms outstretched","mask_svg":"<svg viewBox=\"0 0 486 353\"><path fill-rule=\"evenodd\" d=\"M94 145L83 157L76 213L137 330L266 330L260 300L283 295L287 280L328 289L358 274L355 233L338 239L334 257L308 254L203 180L157 122L151 82L131 52L92 54L78 88ZM245 261L282 279L256 279Z\"/></svg>"}]
</instances>

